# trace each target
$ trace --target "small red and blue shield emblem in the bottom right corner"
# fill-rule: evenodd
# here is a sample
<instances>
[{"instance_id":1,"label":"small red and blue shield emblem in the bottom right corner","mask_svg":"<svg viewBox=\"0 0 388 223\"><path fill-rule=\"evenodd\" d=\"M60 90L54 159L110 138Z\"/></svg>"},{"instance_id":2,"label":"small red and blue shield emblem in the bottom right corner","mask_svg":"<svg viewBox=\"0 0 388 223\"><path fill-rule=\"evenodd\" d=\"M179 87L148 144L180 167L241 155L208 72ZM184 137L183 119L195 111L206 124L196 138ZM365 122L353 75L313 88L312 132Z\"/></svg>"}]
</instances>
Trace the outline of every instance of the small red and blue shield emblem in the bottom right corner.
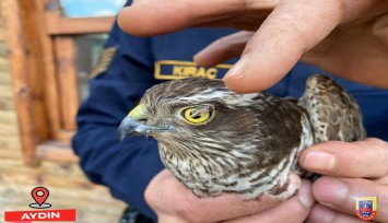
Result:
<instances>
[{"instance_id":1,"label":"small red and blue shield emblem in the bottom right corner","mask_svg":"<svg viewBox=\"0 0 388 223\"><path fill-rule=\"evenodd\" d=\"M361 220L371 221L377 214L377 197L356 198L355 213Z\"/></svg>"}]
</instances>

